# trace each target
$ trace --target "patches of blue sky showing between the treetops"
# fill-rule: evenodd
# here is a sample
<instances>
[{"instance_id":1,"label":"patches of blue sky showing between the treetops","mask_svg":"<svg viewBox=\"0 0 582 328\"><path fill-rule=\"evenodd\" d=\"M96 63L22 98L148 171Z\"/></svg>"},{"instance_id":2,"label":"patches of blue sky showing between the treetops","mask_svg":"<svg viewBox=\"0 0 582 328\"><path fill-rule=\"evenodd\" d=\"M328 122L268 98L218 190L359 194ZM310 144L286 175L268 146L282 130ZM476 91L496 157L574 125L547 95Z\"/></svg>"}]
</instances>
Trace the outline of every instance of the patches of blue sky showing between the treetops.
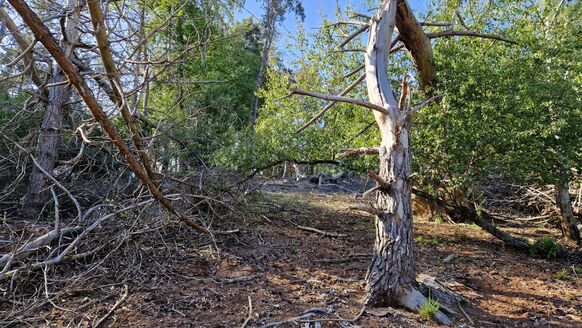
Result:
<instances>
[{"instance_id":1,"label":"patches of blue sky showing between the treetops","mask_svg":"<svg viewBox=\"0 0 582 328\"><path fill-rule=\"evenodd\" d=\"M264 8L261 6L263 0L245 0L244 9L239 10L235 13L235 19L241 20L246 17L254 17L255 19L261 19ZM336 2L339 3L342 9L345 9L348 5L353 8L357 8L361 13L371 13L366 10L370 7L367 5L367 0L303 0L303 7L305 8L305 22L304 26L307 32L312 32L314 29L322 25L322 15L327 17L333 17L336 7ZM374 3L375 1L372 1ZM379 3L380 0L377 0ZM409 0L408 3L412 7L417 17L419 13L424 12L426 6L426 0ZM361 8L361 10L360 10ZM294 35L297 31L297 19L294 15L287 15L285 21L277 27L279 32L279 39L277 40L278 51L283 51L284 45L286 44L290 35ZM286 57L286 54L283 54Z\"/></svg>"}]
</instances>

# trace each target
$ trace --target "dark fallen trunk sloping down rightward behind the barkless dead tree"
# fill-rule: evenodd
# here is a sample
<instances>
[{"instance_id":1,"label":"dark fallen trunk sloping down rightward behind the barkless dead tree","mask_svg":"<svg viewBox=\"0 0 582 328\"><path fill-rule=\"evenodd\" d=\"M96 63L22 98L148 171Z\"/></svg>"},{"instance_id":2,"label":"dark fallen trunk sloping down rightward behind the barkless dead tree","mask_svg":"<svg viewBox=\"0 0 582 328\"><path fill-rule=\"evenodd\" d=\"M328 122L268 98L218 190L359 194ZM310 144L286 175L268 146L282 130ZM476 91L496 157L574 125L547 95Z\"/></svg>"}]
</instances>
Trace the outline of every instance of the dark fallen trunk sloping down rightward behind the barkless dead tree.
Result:
<instances>
[{"instance_id":1,"label":"dark fallen trunk sloping down rightward behind the barkless dead tree","mask_svg":"<svg viewBox=\"0 0 582 328\"><path fill-rule=\"evenodd\" d=\"M427 192L413 188L412 193L417 197L423 198L427 201L433 202L436 206L442 208L447 215L449 215L453 220L470 220L475 223L483 230L489 232L491 235L495 236L497 239L501 240L506 246L524 254L530 254L531 245L528 241L512 236L511 234L500 230L492 222L495 218L484 210L477 212L475 208L469 208L465 205L457 205L446 202L437 196L433 196ZM560 247L557 254L559 258L574 260L576 262L582 262L582 255L576 251L567 250L564 247Z\"/></svg>"}]
</instances>

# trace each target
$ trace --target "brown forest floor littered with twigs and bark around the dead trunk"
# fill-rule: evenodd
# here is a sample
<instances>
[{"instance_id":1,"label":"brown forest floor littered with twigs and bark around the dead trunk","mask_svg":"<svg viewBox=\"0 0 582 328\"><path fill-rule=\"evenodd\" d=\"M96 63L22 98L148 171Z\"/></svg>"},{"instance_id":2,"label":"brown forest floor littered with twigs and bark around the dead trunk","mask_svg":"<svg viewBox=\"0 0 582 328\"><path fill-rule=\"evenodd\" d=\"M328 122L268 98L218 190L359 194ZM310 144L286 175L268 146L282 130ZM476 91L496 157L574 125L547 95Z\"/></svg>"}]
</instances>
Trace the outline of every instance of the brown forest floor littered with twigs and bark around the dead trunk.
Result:
<instances>
[{"instance_id":1,"label":"brown forest floor littered with twigs and bark around the dead trunk","mask_svg":"<svg viewBox=\"0 0 582 328\"><path fill-rule=\"evenodd\" d=\"M247 318L247 327L259 327L314 308L319 312L310 320L353 318L362 308L374 226L371 216L348 210L362 200L346 188L264 186L249 201L249 212L240 213L235 225L244 226L242 233L217 236L215 244L207 245L186 237L141 244L141 251L151 254L137 269L145 278L94 279L99 288L62 295L58 306L39 306L36 315L44 321L33 326L92 326L112 307L115 311L102 327L240 327ZM299 226L345 236L324 236ZM529 238L558 233L541 226L507 230ZM415 218L414 235L417 271L436 277L467 301L458 304L462 310L454 308L455 327L582 327L582 272L571 263L506 250L474 225ZM444 261L451 254L456 257ZM156 273L148 275L148 267ZM563 270L567 273L560 274ZM0 310L1 303L2 297ZM85 307L93 310L83 314L83 304L93 304ZM399 309L374 314L365 313L355 323L282 327L437 326Z\"/></svg>"}]
</instances>

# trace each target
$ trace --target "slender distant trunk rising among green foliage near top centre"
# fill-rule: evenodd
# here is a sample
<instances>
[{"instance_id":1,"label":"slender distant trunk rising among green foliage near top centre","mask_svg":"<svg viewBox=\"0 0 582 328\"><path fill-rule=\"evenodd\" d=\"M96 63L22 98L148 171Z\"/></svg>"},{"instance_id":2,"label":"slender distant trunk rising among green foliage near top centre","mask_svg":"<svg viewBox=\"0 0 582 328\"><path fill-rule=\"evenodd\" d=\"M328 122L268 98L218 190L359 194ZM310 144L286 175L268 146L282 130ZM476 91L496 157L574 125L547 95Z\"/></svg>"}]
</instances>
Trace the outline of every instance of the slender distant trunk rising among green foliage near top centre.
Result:
<instances>
[{"instance_id":1,"label":"slender distant trunk rising among green foliage near top centre","mask_svg":"<svg viewBox=\"0 0 582 328\"><path fill-rule=\"evenodd\" d=\"M267 72L267 65L269 64L269 53L271 52L271 44L273 43L273 38L275 37L275 22L277 17L277 6L273 0L267 0L267 13L265 17L265 43L263 44L263 51L261 54L261 65L259 66L259 72L257 74L257 79L255 81L255 93L253 95L253 102L251 104L250 113L250 123L251 132L255 134L255 128L257 123L258 111L259 111L259 95L258 92L263 87L263 82L265 80L265 74Z\"/></svg>"}]
</instances>

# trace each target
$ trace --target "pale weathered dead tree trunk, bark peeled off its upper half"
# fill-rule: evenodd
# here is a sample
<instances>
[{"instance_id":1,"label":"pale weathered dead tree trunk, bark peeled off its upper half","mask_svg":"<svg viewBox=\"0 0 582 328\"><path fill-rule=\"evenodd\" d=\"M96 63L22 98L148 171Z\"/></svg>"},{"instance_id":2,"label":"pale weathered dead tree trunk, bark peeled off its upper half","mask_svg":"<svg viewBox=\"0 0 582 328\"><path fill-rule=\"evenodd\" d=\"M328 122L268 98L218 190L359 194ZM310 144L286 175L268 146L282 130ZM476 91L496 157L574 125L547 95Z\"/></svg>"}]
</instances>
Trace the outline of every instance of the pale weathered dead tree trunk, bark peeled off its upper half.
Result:
<instances>
[{"instance_id":1,"label":"pale weathered dead tree trunk, bark peeled off its upper half","mask_svg":"<svg viewBox=\"0 0 582 328\"><path fill-rule=\"evenodd\" d=\"M372 263L366 275L366 304L398 305L418 311L427 301L418 291L412 237L412 198L408 130L410 112L405 105L407 87L403 83L401 101L392 92L386 74L386 59L398 0L383 1L370 22L369 43L365 55L366 84L372 104L386 111L374 111L382 142L379 149L376 241ZM441 323L451 321L441 312Z\"/></svg>"}]
</instances>

